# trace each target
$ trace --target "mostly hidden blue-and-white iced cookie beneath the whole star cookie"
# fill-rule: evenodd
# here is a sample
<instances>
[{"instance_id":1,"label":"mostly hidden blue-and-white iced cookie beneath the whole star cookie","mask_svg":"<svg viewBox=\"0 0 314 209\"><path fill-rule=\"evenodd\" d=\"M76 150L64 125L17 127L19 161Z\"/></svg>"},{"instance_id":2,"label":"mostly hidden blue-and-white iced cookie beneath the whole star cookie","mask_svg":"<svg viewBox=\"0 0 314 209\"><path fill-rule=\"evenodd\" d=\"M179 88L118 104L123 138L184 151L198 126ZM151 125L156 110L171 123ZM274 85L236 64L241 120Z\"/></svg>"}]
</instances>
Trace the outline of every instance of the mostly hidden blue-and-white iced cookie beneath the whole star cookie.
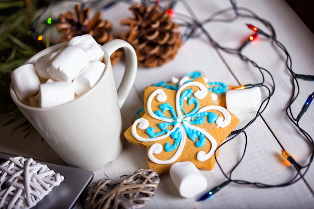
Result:
<instances>
[{"instance_id":1,"label":"mostly hidden blue-and-white iced cookie beneath the whole star cookie","mask_svg":"<svg viewBox=\"0 0 314 209\"><path fill-rule=\"evenodd\" d=\"M204 77L202 72L199 71L195 71L192 73L188 73L187 75L185 75L184 77L182 77L181 79L175 78L173 77L171 81L161 81L158 82L156 84L153 84L152 86L155 87L163 87L166 89L172 89L172 90L178 90L182 85L191 82L192 80L199 78L199 77ZM208 79L205 79L205 82L207 84L208 90L211 92L211 98L212 98L212 102L213 104L219 105L219 106L223 106L224 108L227 107L226 105L226 92L228 90L231 90L234 88L234 86L230 86L227 85L223 82L208 82ZM143 116L144 114L144 108L140 108L138 109L135 114L134 117L132 118L132 123Z\"/></svg>"}]
</instances>

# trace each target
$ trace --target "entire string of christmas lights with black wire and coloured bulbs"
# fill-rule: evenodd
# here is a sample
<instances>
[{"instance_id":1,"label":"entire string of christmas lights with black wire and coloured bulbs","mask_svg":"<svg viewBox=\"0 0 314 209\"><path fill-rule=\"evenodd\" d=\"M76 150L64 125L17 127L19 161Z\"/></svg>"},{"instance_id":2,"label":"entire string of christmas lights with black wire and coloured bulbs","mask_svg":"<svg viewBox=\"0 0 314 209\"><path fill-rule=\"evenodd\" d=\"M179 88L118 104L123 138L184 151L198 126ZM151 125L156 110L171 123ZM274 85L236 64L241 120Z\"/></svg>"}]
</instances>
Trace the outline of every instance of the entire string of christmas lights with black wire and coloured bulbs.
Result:
<instances>
[{"instance_id":1,"label":"entire string of christmas lights with black wire and coloured bulbs","mask_svg":"<svg viewBox=\"0 0 314 209\"><path fill-rule=\"evenodd\" d=\"M91 1L91 2L95 3L98 1ZM117 0L117 1L113 1L113 2L110 2L109 4L104 5L102 7L102 9L110 9L110 7L112 7L113 5L115 5L119 2L128 2L129 4L132 4L132 1ZM313 143L312 137L299 126L299 121L302 118L302 115L308 109L310 103L312 102L314 93L311 93L308 96L307 100L305 101L303 107L301 108L300 112L298 113L298 115L296 117L294 116L294 113L292 112L291 107L292 107L293 103L296 101L296 99L299 95L299 92L300 92L300 87L299 87L297 79L304 79L304 80L308 80L308 81L313 81L314 76L313 75L296 74L295 72L293 72L293 70L292 70L292 59L290 57L290 54L287 51L287 49L285 48L285 46L277 40L275 29L273 28L272 24L269 21L257 16L251 10L249 10L247 8L243 8L243 7L238 7L235 0L230 0L230 3L231 3L230 8L226 8L226 9L217 11L216 13L212 14L210 17L208 17L205 21L202 21L202 22L199 22L190 16L174 12L174 7L176 6L176 4L178 4L178 2L180 2L180 1L147 1L147 0L143 0L143 1L141 1L141 4L143 4L143 5L153 5L153 4L159 5L160 8L167 10L169 15L174 20L179 22L181 27L186 27L186 31L182 36L182 44L184 44L188 39L199 38L201 35L204 34L207 37L209 43L213 47L220 49L226 53L238 56L241 60L250 63L254 68L256 68L258 70L258 72L260 73L260 76L261 76L261 82L260 83L240 85L240 86L236 87L235 89L246 89L246 88L253 88L253 87L258 86L258 87L265 88L266 92L268 93L268 95L265 97L265 99L261 102L261 105L260 105L256 115L246 125L244 125L243 128L231 132L231 134L229 136L230 138L226 139L220 146L217 147L217 149L215 151L216 162L217 162L220 170L222 171L223 175L227 178L227 180L225 182L223 182L222 184L214 187L210 191L206 192L198 200L205 200L205 199L209 198L210 196L212 196L216 192L218 192L221 188L223 188L224 186L227 186L230 182L237 183L237 184L250 184L250 185L254 185L256 187L260 187L260 188L271 188L271 187L288 186L288 185L291 185L291 184L297 182L298 180L302 179L304 177L304 175L307 173L307 171L308 171L308 169L309 169L309 167L313 161L314 143ZM170 6L162 7L161 6L162 3L169 3ZM51 2L51 5L52 4L54 4L54 1ZM220 15L223 15L223 14L228 13L228 12L234 12L234 16L232 18L229 18L229 19L219 18ZM259 27L256 27L256 26L253 26L253 25L247 23L246 26L250 30L252 30L253 34L250 35L242 43L242 45L239 48L229 48L229 47L224 47L221 44L219 44L217 41L215 41L212 38L212 36L210 35L210 33L205 29L205 25L210 24L210 23L232 23L235 20L240 19L240 18L258 21L260 24L262 24L264 27L266 27L266 29L269 30L269 33L264 32ZM43 34L43 32L38 33L36 31L36 25L38 24L39 19L40 19L40 17L38 19L36 19L34 21L34 24L33 24L34 39L36 37L36 40L39 40L40 35ZM48 24L51 24L52 23L51 21L52 20L50 19L49 20L50 23L48 22ZM269 101L270 101L270 99L273 96L274 91L275 91L275 81L274 81L272 74L267 69L260 67L259 65L257 65L256 62L254 62L252 59L248 58L247 56L245 56L242 53L243 49L245 49L245 47L248 46L251 42L255 41L258 36L263 36L267 40L273 42L286 56L285 65L286 65L288 72L291 75L291 78L292 78L292 82L291 82L292 91L291 91L291 96L290 96L288 105L286 107L286 115L288 116L289 120L295 125L295 127L299 130L300 134L309 142L309 145L311 146L311 155L308 159L308 162L305 165L301 165L294 160L294 158L283 148L283 146L278 141L279 145L282 148L282 150L281 150L282 156L285 159L287 159L296 169L296 173L289 180L287 180L286 182L278 183L278 184L267 184L267 183L262 183L262 182L257 182L257 181L251 182L251 181L247 181L247 180L233 179L232 178L232 173L237 168L237 166L241 163L241 161L243 160L245 153L246 153L248 137L247 137L245 130L248 127L250 127L250 125L253 124L256 121L256 119L259 116L261 116L261 114L266 110L268 103L269 103ZM268 84L268 85L265 84L265 74L270 77L270 84ZM229 174L227 174L223 170L221 163L219 163L219 160L217 159L217 151L220 148L222 148L225 144L230 142L231 140L234 140L240 134L244 134L244 140L245 140L243 153L242 153L241 158L236 163L236 165L234 165L234 167L229 171ZM312 191L312 193L314 195L313 191Z\"/></svg>"}]
</instances>

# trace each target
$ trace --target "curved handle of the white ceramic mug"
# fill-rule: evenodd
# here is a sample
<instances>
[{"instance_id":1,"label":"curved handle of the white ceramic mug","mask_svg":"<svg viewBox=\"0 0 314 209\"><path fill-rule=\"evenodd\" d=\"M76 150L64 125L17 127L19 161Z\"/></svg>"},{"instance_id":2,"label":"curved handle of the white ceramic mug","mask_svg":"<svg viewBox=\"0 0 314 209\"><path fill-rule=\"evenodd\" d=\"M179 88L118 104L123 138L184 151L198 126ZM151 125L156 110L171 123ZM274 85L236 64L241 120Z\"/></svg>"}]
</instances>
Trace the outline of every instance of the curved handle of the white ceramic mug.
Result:
<instances>
[{"instance_id":1,"label":"curved handle of the white ceramic mug","mask_svg":"<svg viewBox=\"0 0 314 209\"><path fill-rule=\"evenodd\" d=\"M130 93L133 83L135 81L137 71L137 57L134 48L124 40L114 39L102 45L104 51L107 52L109 57L116 50L123 48L125 53L125 71L122 81L117 90L119 107L123 106L127 95ZM108 57L108 58L109 58ZM108 62L107 62L108 63ZM111 64L110 64L111 65Z\"/></svg>"}]
</instances>

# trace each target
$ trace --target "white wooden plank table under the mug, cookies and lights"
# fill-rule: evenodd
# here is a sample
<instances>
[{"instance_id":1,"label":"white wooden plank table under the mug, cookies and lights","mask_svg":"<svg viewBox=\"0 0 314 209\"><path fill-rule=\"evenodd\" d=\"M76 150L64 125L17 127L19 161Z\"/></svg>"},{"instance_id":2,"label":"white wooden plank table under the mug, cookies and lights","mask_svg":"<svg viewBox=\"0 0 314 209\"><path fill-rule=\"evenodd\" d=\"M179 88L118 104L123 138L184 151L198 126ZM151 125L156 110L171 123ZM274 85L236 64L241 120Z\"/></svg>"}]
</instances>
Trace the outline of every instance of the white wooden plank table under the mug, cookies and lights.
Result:
<instances>
[{"instance_id":1,"label":"white wooden plank table under the mug, cookies and lights","mask_svg":"<svg viewBox=\"0 0 314 209\"><path fill-rule=\"evenodd\" d=\"M292 68L296 73L314 74L314 36L283 0L238 0L237 4L239 7L252 10L259 17L272 23L277 39L283 43L291 55ZM119 3L111 10L104 12L103 18L110 20L113 24L113 33L119 34L127 30L126 27L119 26L119 20L132 17L128 7L126 3ZM179 2L174 11L203 21L215 12L228 7L231 7L231 4L227 0L185 0ZM239 19L228 24L207 24L205 28L221 45L236 48L252 34L245 23L263 27L255 20ZM184 32L185 28L180 30ZM274 77L276 87L267 109L246 130L248 135L246 155L234 171L233 178L269 184L283 183L295 175L296 170L282 163L280 144L300 164L308 162L312 151L285 114L292 90L291 76L285 66L285 55L265 38L257 39L248 45L243 50L243 54L269 70ZM121 80L123 70L123 63L114 66L116 83ZM172 77L181 78L196 70L202 71L209 81L222 81L229 85L260 82L259 74L251 65L236 55L215 49L204 35L188 39L179 49L176 58L168 64L153 69L138 68L135 84L121 109L123 130L131 125L131 118L135 111L143 106L143 90L146 86L159 81L168 81ZM308 95L314 90L314 82L299 80L299 84L300 95L292 107L295 116ZM265 97L265 95L262 96ZM243 127L252 117L254 113L240 115L241 122L237 128ZM311 105L299 122L310 136L314 136L313 118L314 106ZM6 116L0 117L1 124L6 120ZM22 131L10 135L11 127L1 127L0 151L63 163L36 131L24 138ZM239 160L243 147L244 138L240 135L220 150L218 160L227 174ZM132 174L138 168L146 168L145 155L144 148L126 141L121 155L113 162L106 164L103 169L95 171L93 181L103 178L104 174L117 179L121 175ZM201 170L201 172L208 180L208 189L226 180L217 165L211 171ZM159 188L145 208L314 208L313 165L304 179L293 185L265 189L230 183L213 198L202 202L195 201L195 198L187 199L180 196L169 174L161 175L160 178ZM88 202L84 205L87 208Z\"/></svg>"}]
</instances>

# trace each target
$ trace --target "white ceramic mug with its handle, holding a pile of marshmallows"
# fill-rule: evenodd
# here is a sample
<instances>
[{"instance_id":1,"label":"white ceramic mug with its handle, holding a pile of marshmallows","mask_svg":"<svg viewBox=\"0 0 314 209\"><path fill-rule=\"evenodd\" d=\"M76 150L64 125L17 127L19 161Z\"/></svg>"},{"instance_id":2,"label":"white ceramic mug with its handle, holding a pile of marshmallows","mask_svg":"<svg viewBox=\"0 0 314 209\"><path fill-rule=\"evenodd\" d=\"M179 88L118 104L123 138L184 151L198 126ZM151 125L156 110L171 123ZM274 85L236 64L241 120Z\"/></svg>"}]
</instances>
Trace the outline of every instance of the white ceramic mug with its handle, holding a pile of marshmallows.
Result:
<instances>
[{"instance_id":1,"label":"white ceramic mug with its handle, holding a pile of marshmallows","mask_svg":"<svg viewBox=\"0 0 314 209\"><path fill-rule=\"evenodd\" d=\"M67 43L51 46L25 64L50 54ZM116 90L110 55L119 48L125 52L125 71ZM56 107L39 108L23 104L11 84L10 94L21 112L69 165L95 171L116 159L122 151L120 108L135 80L137 58L133 47L123 40L112 40L103 46L106 67L98 82L87 93Z\"/></svg>"}]
</instances>

